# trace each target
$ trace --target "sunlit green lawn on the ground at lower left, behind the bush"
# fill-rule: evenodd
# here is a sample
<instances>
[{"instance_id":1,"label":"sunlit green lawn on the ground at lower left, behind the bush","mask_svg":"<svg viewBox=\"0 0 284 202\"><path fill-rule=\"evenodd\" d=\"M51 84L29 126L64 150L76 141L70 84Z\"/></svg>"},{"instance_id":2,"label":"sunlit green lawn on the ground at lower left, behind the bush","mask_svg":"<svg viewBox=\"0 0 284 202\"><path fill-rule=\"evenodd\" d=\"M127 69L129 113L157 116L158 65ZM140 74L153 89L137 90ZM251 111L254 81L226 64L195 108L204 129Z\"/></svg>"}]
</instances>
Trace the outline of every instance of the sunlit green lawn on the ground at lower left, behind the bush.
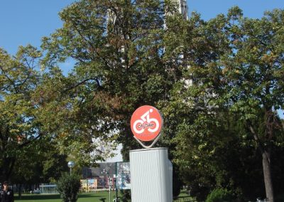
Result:
<instances>
[{"instance_id":1,"label":"sunlit green lawn on the ground at lower left, behind the bush","mask_svg":"<svg viewBox=\"0 0 284 202\"><path fill-rule=\"evenodd\" d=\"M111 192L111 201L115 198L116 193ZM99 199L106 198L105 202L109 202L109 191L98 191L96 193L80 193L77 202L102 202ZM15 194L17 202L61 202L59 194L24 194L21 200Z\"/></svg>"}]
</instances>

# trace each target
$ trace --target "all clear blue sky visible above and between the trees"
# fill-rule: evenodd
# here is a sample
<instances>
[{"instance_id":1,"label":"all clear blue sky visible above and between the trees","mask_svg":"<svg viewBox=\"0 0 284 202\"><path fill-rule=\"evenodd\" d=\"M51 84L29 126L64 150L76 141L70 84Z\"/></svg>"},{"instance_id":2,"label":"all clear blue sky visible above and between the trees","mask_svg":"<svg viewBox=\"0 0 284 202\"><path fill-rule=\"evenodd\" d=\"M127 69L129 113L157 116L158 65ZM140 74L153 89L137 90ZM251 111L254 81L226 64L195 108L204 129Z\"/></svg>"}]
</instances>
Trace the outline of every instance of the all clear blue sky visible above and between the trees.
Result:
<instances>
[{"instance_id":1,"label":"all clear blue sky visible above and between the trees","mask_svg":"<svg viewBox=\"0 0 284 202\"><path fill-rule=\"evenodd\" d=\"M18 46L28 43L40 46L43 36L49 36L62 26L58 12L72 2L74 0L0 0L0 47L15 54ZM284 0L187 0L189 14L197 11L205 20L226 14L231 6L239 6L244 16L261 18L264 11L284 9ZM67 71L69 65L67 61L62 68ZM284 117L283 112L280 114Z\"/></svg>"}]
</instances>

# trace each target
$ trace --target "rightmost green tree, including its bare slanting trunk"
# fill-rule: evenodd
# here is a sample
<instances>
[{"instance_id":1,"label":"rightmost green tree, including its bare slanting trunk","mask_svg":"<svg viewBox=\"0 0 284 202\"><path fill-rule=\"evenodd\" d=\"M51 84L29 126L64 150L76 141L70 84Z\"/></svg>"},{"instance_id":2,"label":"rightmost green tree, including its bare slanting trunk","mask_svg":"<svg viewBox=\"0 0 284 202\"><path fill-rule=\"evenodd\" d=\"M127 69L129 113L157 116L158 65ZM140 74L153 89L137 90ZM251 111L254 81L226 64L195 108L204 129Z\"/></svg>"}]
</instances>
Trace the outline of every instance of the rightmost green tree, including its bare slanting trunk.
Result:
<instances>
[{"instance_id":1,"label":"rightmost green tree, including its bare slanting trunk","mask_svg":"<svg viewBox=\"0 0 284 202\"><path fill-rule=\"evenodd\" d=\"M231 110L245 120L263 159L266 197L274 201L271 149L280 129L276 110L283 108L283 38L284 11L266 12L261 19L236 16L228 32L231 52L224 55L226 98ZM237 14L237 15L236 15ZM259 121L261 117L261 121Z\"/></svg>"}]
</instances>

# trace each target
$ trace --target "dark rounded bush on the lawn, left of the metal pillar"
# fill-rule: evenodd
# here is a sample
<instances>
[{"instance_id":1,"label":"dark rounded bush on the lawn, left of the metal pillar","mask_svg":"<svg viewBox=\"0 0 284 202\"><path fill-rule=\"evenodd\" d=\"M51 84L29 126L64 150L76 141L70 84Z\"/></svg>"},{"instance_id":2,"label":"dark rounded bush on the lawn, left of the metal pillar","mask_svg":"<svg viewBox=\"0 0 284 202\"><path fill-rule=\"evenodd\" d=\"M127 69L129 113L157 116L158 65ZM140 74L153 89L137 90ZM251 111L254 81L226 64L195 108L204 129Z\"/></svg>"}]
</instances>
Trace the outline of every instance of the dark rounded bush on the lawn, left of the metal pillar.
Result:
<instances>
[{"instance_id":1,"label":"dark rounded bush on the lawn, left of the metal pillar","mask_svg":"<svg viewBox=\"0 0 284 202\"><path fill-rule=\"evenodd\" d=\"M63 174L57 182L57 189L64 202L76 202L81 186L80 178L76 175Z\"/></svg>"}]
</instances>

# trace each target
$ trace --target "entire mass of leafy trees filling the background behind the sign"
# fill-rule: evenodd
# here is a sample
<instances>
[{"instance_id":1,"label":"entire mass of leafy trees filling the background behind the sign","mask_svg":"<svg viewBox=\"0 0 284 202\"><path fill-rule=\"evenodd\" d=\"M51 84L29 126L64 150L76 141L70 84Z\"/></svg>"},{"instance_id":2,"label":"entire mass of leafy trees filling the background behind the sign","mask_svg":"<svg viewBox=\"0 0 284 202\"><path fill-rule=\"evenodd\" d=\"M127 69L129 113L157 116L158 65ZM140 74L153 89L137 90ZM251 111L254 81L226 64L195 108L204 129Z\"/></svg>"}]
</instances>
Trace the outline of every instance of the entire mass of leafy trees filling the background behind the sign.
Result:
<instances>
[{"instance_id":1,"label":"entire mass of leafy trees filling the background behind the sign","mask_svg":"<svg viewBox=\"0 0 284 202\"><path fill-rule=\"evenodd\" d=\"M169 148L175 179L192 196L226 188L273 201L284 187L275 161L284 151L283 16L275 9L251 19L233 7L209 21L196 13L185 20L173 1L158 0L67 6L42 51L0 51L1 178L21 163L57 178L54 165L66 154L90 165L119 143L127 160L139 148L131 115L153 105L164 118L157 145ZM70 58L75 65L63 75L60 63ZM35 156L48 159L32 165Z\"/></svg>"}]
</instances>

